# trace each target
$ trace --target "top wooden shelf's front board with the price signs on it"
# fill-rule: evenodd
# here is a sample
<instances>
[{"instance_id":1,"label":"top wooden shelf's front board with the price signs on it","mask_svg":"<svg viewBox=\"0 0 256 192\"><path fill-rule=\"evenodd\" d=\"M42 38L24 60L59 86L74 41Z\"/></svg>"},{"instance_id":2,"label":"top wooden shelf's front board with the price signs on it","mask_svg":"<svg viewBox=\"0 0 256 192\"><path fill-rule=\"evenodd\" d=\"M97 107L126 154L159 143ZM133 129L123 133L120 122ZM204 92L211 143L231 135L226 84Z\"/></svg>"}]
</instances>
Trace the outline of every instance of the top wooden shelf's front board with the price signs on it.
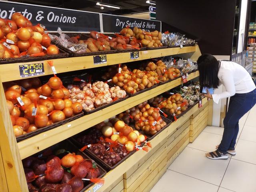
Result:
<instances>
[{"instance_id":1,"label":"top wooden shelf's front board with the price signs on it","mask_svg":"<svg viewBox=\"0 0 256 192\"><path fill-rule=\"evenodd\" d=\"M70 71L76 71L76 70L83 70L83 69L89 69L89 68L96 68L96 67L120 64L120 63L145 60L150 58L158 58L158 57L169 56L169 55L196 52L196 47L197 46L186 46L183 48L176 47L176 48L139 51L140 53L139 53L138 59L131 59L130 52L107 54L106 55L107 62L104 64L94 64L94 60L93 60L94 56L62 58L62 59L54 59L53 61L54 61L54 66L56 68L57 73L63 73L63 72L70 72ZM52 74L52 69L48 65L47 60L26 62L26 63L2 64L0 65L0 72L1 72L0 76L1 76L2 82L24 79L24 78L20 78L19 65L35 64L35 63L44 63L44 75ZM44 75L39 75L39 76L44 76Z\"/></svg>"}]
</instances>

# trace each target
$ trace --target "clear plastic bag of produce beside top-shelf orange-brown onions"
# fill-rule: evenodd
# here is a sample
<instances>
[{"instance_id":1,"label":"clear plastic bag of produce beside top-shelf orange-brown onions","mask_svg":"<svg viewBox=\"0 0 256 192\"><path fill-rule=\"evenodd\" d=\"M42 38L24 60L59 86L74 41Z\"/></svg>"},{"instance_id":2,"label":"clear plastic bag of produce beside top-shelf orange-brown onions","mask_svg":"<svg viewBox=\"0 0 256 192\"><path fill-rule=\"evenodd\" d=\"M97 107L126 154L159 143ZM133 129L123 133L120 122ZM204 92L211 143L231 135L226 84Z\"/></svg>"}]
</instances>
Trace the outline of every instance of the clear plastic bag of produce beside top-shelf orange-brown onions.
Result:
<instances>
[{"instance_id":1,"label":"clear plastic bag of produce beside top-shelf orange-brown onions","mask_svg":"<svg viewBox=\"0 0 256 192\"><path fill-rule=\"evenodd\" d=\"M51 40L53 40L56 44L62 45L65 48L67 48L75 53L85 53L86 52L86 49L87 49L86 44L74 43L74 41L72 41L72 39L68 35L62 33L62 30L60 27L58 27L57 32L58 32L58 34L60 34L60 36L49 34Z\"/></svg>"}]
</instances>

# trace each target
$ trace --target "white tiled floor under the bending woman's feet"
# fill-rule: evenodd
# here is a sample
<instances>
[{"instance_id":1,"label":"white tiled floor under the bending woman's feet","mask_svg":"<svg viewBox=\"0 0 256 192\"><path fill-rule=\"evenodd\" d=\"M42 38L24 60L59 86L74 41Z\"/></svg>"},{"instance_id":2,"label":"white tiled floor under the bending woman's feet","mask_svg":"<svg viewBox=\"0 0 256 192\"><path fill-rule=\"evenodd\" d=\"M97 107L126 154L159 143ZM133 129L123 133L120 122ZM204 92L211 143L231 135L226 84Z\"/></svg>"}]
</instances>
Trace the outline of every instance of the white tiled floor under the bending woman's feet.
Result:
<instances>
[{"instance_id":1,"label":"white tiled floor under the bending woman's feet","mask_svg":"<svg viewBox=\"0 0 256 192\"><path fill-rule=\"evenodd\" d=\"M255 192L256 191L256 106L239 122L236 156L210 160L224 128L207 126L183 150L150 192Z\"/></svg>"}]
</instances>

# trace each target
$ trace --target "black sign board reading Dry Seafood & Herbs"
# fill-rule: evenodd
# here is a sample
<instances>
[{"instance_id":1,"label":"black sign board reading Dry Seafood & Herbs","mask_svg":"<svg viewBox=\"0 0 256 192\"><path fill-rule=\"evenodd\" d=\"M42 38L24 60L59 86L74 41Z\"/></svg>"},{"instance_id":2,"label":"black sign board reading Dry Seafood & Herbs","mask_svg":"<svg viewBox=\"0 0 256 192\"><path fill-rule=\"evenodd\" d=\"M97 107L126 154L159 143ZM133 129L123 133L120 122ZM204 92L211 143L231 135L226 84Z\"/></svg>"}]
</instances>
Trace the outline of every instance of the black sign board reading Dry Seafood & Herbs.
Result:
<instances>
[{"instance_id":1,"label":"black sign board reading Dry Seafood & Herbs","mask_svg":"<svg viewBox=\"0 0 256 192\"><path fill-rule=\"evenodd\" d=\"M117 15L102 14L103 32L119 33L122 28L130 26L131 29L138 27L144 30L161 30L161 22L145 19L130 18Z\"/></svg>"}]
</instances>

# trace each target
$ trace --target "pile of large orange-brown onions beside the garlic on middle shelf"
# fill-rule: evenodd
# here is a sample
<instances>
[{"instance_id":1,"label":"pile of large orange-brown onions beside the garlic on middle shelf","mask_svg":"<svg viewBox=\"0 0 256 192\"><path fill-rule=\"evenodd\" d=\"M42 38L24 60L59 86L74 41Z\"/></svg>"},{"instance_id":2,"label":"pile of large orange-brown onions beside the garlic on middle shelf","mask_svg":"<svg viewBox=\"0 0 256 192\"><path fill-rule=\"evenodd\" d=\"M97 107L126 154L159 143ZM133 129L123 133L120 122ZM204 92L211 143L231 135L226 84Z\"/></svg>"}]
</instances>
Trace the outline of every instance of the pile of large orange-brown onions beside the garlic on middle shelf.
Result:
<instances>
[{"instance_id":1,"label":"pile of large orange-brown onions beside the garlic on middle shelf","mask_svg":"<svg viewBox=\"0 0 256 192\"><path fill-rule=\"evenodd\" d=\"M55 76L42 86L38 78L29 78L8 82L4 88L16 137L82 112L82 105L69 100L68 89Z\"/></svg>"}]
</instances>

